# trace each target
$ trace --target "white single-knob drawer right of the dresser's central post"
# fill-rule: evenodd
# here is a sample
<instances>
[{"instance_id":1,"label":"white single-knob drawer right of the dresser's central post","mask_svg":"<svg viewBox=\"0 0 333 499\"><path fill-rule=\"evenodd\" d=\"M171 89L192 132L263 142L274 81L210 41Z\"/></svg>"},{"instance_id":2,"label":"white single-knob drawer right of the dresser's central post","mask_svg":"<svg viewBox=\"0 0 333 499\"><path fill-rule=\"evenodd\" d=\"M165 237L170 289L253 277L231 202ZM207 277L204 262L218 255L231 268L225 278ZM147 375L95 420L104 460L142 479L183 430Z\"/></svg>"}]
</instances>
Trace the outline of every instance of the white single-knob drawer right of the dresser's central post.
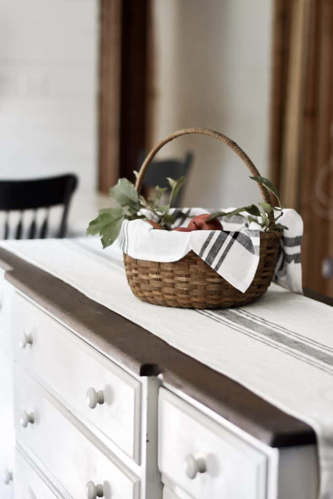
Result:
<instances>
[{"instance_id":1,"label":"white single-knob drawer right of the dresser's central post","mask_svg":"<svg viewBox=\"0 0 333 499\"><path fill-rule=\"evenodd\" d=\"M196 499L266 497L264 454L164 388L158 411L164 482Z\"/></svg>"}]
</instances>

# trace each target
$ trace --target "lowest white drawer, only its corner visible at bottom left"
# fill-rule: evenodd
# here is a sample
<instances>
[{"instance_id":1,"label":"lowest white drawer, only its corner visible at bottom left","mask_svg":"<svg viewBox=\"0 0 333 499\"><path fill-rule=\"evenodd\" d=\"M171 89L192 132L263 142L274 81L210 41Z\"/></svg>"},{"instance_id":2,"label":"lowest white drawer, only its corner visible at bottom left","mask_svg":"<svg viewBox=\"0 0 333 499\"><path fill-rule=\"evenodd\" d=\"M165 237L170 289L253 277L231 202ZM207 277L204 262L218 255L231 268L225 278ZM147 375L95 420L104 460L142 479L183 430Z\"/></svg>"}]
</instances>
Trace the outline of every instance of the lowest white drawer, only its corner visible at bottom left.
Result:
<instances>
[{"instance_id":1,"label":"lowest white drawer, only its corner visible at bottom left","mask_svg":"<svg viewBox=\"0 0 333 499\"><path fill-rule=\"evenodd\" d=\"M62 499L49 484L46 485L42 473L36 466L27 463L22 454L15 452L15 499Z\"/></svg>"}]
</instances>

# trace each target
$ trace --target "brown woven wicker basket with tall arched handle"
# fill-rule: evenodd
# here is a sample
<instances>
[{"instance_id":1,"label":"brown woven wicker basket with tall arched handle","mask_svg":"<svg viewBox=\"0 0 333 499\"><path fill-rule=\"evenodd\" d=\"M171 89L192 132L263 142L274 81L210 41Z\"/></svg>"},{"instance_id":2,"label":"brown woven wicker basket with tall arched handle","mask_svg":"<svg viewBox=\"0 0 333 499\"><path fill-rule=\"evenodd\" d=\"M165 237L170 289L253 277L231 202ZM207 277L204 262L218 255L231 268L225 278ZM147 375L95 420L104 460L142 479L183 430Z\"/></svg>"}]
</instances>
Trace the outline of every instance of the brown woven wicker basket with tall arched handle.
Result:
<instances>
[{"instance_id":1,"label":"brown woven wicker basket with tall arched handle","mask_svg":"<svg viewBox=\"0 0 333 499\"><path fill-rule=\"evenodd\" d=\"M138 192L156 153L167 142L192 133L209 135L224 142L240 156L253 176L260 175L245 152L225 135L205 128L189 128L170 135L148 154L137 177L135 188ZM264 201L270 203L267 189L262 185L259 188ZM250 303L266 292L274 274L281 235L275 228L272 213L270 222L269 230L260 233L260 261L245 293L233 287L193 251L171 263L137 260L124 253L127 280L132 292L140 300L170 307L226 308Z\"/></svg>"}]
</instances>

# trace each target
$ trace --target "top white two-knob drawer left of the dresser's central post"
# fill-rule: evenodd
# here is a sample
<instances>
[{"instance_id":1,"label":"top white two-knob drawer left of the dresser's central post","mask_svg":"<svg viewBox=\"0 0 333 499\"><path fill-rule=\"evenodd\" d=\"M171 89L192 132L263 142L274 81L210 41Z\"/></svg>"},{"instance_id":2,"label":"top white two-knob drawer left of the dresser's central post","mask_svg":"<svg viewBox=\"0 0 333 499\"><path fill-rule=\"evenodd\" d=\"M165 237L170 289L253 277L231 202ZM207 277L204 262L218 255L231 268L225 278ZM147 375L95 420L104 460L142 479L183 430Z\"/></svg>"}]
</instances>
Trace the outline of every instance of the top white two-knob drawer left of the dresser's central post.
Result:
<instances>
[{"instance_id":1,"label":"top white two-knob drawer left of the dresser's central post","mask_svg":"<svg viewBox=\"0 0 333 499\"><path fill-rule=\"evenodd\" d=\"M32 343L21 348L26 340ZM92 431L102 432L140 463L138 380L18 294L14 298L13 341L20 365L34 372ZM88 390L94 408L88 405Z\"/></svg>"}]
</instances>

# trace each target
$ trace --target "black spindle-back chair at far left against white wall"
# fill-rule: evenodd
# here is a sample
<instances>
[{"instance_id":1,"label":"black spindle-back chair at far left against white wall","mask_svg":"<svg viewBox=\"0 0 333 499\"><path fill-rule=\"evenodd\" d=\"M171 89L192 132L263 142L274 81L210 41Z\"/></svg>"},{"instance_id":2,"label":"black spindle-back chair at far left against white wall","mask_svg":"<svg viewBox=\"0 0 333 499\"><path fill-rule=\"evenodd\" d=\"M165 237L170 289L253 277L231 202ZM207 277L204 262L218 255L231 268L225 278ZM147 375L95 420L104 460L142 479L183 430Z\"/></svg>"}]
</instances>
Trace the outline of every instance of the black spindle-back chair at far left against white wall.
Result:
<instances>
[{"instance_id":1,"label":"black spindle-back chair at far left against white wall","mask_svg":"<svg viewBox=\"0 0 333 499\"><path fill-rule=\"evenodd\" d=\"M3 239L9 236L9 214L20 212L13 239L21 239L23 231L23 213L34 211L34 216L28 228L28 239L44 239L48 231L48 215L52 206L63 205L57 237L66 234L66 220L71 196L77 187L76 175L60 175L31 180L1 180L0 181L0 211L6 213ZM36 215L38 209L46 209L40 230L37 228Z\"/></svg>"}]
</instances>

